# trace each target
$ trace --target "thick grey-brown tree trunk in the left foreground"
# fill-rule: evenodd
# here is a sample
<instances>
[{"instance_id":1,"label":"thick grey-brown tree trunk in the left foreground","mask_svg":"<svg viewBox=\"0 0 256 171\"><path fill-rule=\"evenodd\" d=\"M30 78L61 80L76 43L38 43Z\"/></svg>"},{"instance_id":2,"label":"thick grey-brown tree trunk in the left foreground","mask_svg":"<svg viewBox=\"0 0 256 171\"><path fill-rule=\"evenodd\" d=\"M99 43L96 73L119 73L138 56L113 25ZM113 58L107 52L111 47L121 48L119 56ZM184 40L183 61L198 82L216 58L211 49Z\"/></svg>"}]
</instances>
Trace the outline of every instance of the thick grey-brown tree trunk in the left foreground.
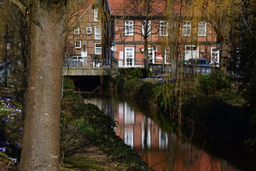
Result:
<instances>
[{"instance_id":1,"label":"thick grey-brown tree trunk in the left foreground","mask_svg":"<svg viewBox=\"0 0 256 171\"><path fill-rule=\"evenodd\" d=\"M31 61L19 170L59 170L67 0L33 0L29 16Z\"/></svg>"}]
</instances>

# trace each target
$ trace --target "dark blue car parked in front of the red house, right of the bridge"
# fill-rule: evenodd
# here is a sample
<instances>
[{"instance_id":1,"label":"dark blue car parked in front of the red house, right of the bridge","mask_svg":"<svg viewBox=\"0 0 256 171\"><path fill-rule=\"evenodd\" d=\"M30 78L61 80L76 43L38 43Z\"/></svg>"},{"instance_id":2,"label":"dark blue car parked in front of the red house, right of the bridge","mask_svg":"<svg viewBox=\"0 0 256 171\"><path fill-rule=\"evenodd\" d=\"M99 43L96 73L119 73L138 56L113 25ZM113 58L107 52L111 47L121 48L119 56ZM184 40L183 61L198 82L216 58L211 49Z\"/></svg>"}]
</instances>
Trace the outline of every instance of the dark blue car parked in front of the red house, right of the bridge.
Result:
<instances>
[{"instance_id":1,"label":"dark blue car parked in front of the red house, right of the bridge","mask_svg":"<svg viewBox=\"0 0 256 171\"><path fill-rule=\"evenodd\" d=\"M201 73L203 75L212 73L212 67L206 58L189 58L186 66L188 73Z\"/></svg>"}]
</instances>

